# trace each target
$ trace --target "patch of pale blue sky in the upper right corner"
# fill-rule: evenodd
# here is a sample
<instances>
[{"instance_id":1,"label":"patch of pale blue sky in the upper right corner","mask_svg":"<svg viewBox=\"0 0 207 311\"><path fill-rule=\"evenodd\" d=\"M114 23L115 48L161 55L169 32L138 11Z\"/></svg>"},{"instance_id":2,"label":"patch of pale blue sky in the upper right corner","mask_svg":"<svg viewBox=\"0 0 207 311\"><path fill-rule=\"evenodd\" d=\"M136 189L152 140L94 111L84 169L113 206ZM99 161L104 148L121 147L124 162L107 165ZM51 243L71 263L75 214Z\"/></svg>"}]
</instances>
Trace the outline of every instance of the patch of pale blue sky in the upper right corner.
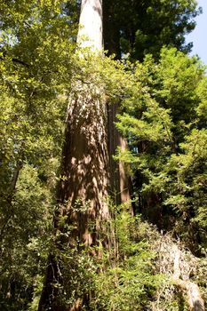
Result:
<instances>
[{"instance_id":1,"label":"patch of pale blue sky in the upper right corner","mask_svg":"<svg viewBox=\"0 0 207 311\"><path fill-rule=\"evenodd\" d=\"M196 20L195 30L186 36L186 42L193 42L194 47L191 55L197 54L203 63L207 65L207 0L198 0L198 6L202 6L203 14Z\"/></svg>"}]
</instances>

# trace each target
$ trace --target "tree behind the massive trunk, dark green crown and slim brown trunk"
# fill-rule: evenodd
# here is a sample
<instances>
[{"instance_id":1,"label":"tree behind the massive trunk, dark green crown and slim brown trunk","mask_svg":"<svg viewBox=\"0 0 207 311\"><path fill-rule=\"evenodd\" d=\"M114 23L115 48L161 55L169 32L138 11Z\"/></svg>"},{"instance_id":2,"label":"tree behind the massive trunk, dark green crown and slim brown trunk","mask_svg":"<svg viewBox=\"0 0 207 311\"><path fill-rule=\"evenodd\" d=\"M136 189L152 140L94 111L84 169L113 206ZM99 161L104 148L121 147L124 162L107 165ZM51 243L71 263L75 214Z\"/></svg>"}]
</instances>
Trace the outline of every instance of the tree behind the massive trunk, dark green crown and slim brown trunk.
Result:
<instances>
[{"instance_id":1,"label":"tree behind the massive trunk, dark green crown and slim brown trunk","mask_svg":"<svg viewBox=\"0 0 207 311\"><path fill-rule=\"evenodd\" d=\"M155 59L163 45L177 47L189 52L191 44L185 44L185 35L195 28L193 18L201 12L195 1L104 1L104 47L109 54L130 56L131 60L143 60L151 53ZM115 128L120 103L108 105L108 153L110 166L111 195L115 202L129 202L131 179L122 161L115 163L115 149L126 148L121 133ZM133 211L132 211L133 212Z\"/></svg>"}]
</instances>

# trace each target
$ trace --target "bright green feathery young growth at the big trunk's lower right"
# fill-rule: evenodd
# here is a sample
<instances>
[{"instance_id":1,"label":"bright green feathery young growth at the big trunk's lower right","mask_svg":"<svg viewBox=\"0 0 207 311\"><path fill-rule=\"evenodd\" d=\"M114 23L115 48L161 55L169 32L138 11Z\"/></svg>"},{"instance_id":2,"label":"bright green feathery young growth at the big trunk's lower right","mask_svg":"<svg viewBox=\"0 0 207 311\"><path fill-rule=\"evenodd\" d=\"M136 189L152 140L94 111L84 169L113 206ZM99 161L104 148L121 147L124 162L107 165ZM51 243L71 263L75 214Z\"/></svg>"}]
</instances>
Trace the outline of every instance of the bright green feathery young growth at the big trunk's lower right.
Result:
<instances>
[{"instance_id":1,"label":"bright green feathery young growth at the big trunk's lower right","mask_svg":"<svg viewBox=\"0 0 207 311\"><path fill-rule=\"evenodd\" d=\"M145 240L150 228L132 218L124 205L119 207L113 227L115 259L109 259L109 266L93 276L90 309L147 310L162 280L155 272L155 253Z\"/></svg>"}]
</instances>

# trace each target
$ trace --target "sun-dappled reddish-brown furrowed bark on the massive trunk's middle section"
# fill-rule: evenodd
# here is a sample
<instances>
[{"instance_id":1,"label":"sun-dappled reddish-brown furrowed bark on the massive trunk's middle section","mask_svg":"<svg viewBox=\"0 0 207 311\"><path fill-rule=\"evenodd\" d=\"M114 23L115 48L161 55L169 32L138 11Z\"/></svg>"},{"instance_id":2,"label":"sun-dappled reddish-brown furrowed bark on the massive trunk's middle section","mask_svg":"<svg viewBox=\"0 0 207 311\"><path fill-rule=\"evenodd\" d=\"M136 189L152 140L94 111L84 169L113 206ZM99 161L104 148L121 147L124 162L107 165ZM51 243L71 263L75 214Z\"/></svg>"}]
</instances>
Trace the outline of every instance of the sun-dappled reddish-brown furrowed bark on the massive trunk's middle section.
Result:
<instances>
[{"instance_id":1,"label":"sun-dappled reddish-brown furrowed bark on the massive trunk's middle section","mask_svg":"<svg viewBox=\"0 0 207 311\"><path fill-rule=\"evenodd\" d=\"M106 106L100 101L100 94L88 88L80 85L68 109L63 180L58 197L62 215L67 213L69 221L76 223L75 236L92 245L97 240L98 223L108 218L108 176ZM89 221L97 222L94 233L88 231Z\"/></svg>"}]
</instances>

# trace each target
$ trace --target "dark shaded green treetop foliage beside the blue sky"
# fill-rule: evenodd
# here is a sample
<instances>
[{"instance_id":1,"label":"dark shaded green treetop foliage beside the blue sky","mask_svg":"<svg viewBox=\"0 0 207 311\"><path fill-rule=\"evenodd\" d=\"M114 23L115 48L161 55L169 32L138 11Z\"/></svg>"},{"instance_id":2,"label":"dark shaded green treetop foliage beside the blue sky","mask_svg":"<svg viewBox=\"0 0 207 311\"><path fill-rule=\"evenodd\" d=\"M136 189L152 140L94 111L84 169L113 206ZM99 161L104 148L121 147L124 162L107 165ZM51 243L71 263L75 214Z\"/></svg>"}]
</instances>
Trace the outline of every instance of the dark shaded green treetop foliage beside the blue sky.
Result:
<instances>
[{"instance_id":1,"label":"dark shaded green treetop foliage beside the blue sky","mask_svg":"<svg viewBox=\"0 0 207 311\"><path fill-rule=\"evenodd\" d=\"M130 53L133 60L143 60L147 53L158 60L163 45L189 52L192 44L185 43L185 35L195 28L194 18L202 12L195 0L114 0L105 5L106 20L115 28L111 44L119 36L121 52ZM110 50L109 40L106 34Z\"/></svg>"}]
</instances>

